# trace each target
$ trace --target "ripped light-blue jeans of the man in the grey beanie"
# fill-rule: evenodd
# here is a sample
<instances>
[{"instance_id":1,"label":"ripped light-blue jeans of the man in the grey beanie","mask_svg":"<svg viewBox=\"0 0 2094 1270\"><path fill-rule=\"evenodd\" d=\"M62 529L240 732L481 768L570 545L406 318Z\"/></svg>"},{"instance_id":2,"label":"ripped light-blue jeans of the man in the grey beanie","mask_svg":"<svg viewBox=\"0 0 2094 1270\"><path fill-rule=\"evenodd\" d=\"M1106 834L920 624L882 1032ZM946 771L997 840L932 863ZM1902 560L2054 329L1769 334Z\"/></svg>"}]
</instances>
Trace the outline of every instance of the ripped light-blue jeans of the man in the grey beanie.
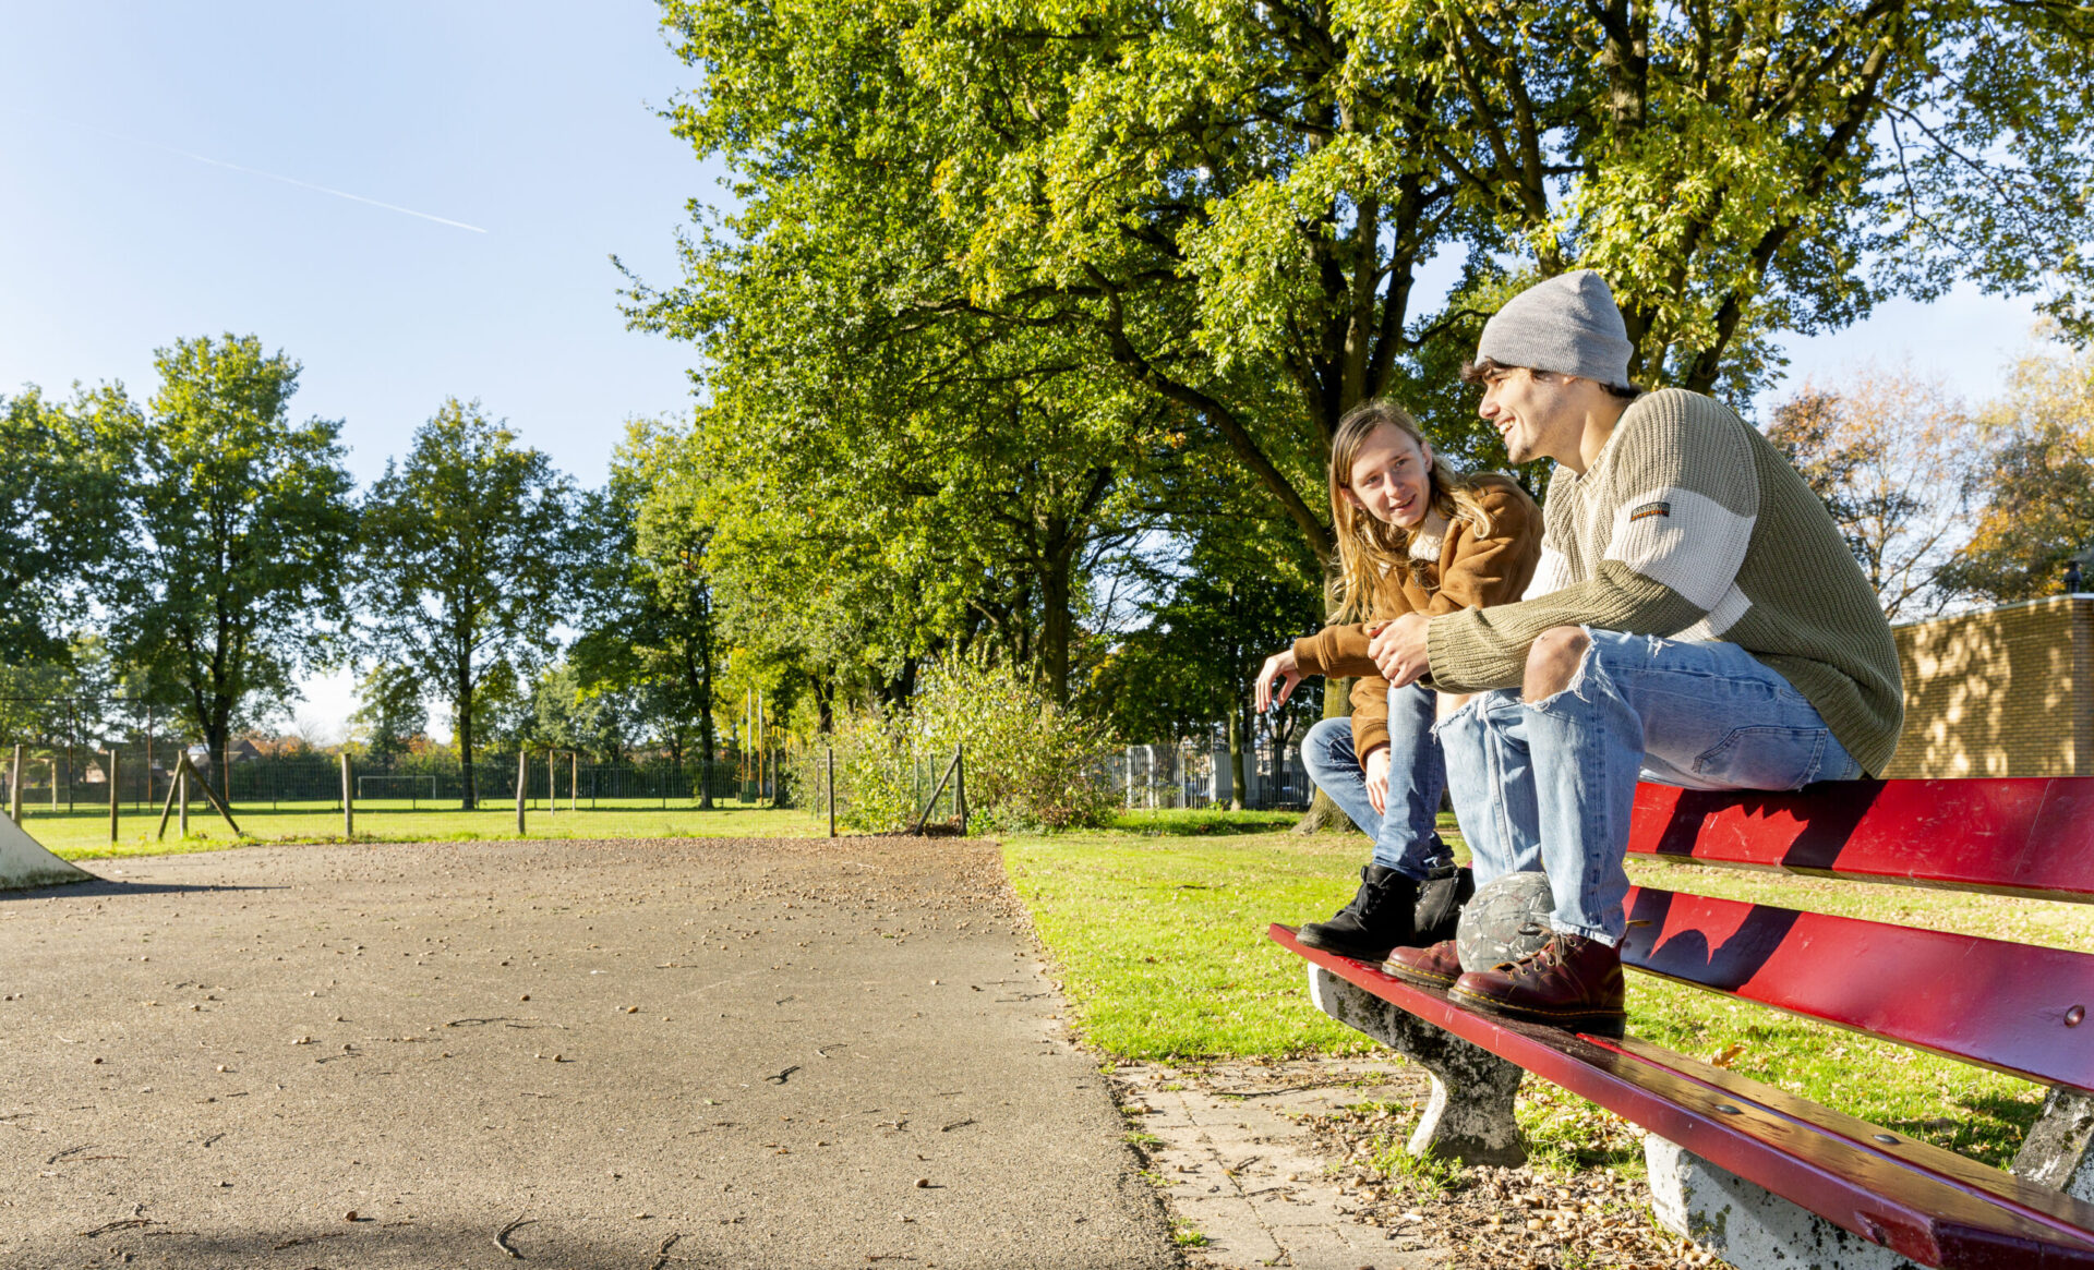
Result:
<instances>
[{"instance_id":1,"label":"ripped light-blue jeans of the man in the grey beanie","mask_svg":"<svg viewBox=\"0 0 2094 1270\"><path fill-rule=\"evenodd\" d=\"M1478 693L1439 726L1476 885L1547 872L1558 931L1621 942L1640 778L1801 789L1864 774L1818 709L1738 644L1585 634L1562 693Z\"/></svg>"}]
</instances>

